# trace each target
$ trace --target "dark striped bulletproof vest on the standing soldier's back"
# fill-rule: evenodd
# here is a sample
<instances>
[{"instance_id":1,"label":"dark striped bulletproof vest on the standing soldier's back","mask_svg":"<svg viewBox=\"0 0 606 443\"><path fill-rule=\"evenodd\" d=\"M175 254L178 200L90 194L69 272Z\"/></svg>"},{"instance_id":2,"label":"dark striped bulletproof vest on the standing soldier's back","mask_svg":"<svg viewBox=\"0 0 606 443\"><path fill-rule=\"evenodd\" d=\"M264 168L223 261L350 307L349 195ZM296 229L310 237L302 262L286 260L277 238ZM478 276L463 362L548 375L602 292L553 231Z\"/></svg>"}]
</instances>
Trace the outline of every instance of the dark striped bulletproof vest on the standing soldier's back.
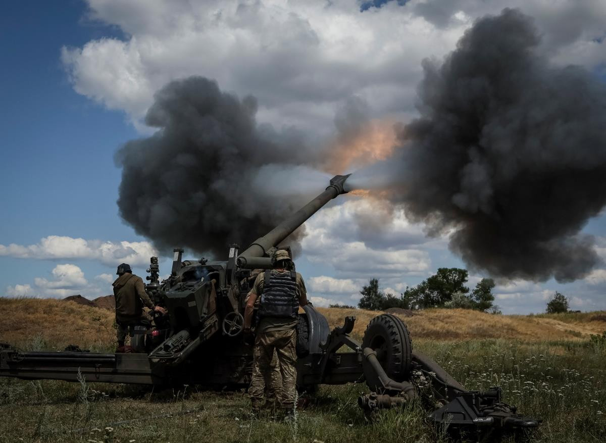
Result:
<instances>
[{"instance_id":1,"label":"dark striped bulletproof vest on the standing soldier's back","mask_svg":"<svg viewBox=\"0 0 606 443\"><path fill-rule=\"evenodd\" d=\"M265 271L259 316L296 318L298 313L299 300L297 297L296 272L276 274Z\"/></svg>"}]
</instances>

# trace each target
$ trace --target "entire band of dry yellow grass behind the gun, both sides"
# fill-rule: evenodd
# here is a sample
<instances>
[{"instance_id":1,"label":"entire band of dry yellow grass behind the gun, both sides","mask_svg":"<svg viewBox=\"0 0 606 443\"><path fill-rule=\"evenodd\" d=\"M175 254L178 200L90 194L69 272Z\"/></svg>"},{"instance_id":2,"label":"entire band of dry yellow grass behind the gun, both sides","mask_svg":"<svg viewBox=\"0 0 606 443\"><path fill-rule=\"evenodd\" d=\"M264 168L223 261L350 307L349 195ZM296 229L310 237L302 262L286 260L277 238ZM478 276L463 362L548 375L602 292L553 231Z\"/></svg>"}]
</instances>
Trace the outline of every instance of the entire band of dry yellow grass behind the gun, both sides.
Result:
<instances>
[{"instance_id":1,"label":"entire band of dry yellow grass behind the gun, both sides","mask_svg":"<svg viewBox=\"0 0 606 443\"><path fill-rule=\"evenodd\" d=\"M318 308L330 327L356 316L352 335L360 339L378 311ZM0 298L0 342L25 345L39 337L57 348L68 344L111 348L115 341L113 312L56 299ZM427 309L404 317L413 339L436 341L519 339L523 341L579 340L606 330L606 313L562 315L491 315L464 309Z\"/></svg>"}]
</instances>

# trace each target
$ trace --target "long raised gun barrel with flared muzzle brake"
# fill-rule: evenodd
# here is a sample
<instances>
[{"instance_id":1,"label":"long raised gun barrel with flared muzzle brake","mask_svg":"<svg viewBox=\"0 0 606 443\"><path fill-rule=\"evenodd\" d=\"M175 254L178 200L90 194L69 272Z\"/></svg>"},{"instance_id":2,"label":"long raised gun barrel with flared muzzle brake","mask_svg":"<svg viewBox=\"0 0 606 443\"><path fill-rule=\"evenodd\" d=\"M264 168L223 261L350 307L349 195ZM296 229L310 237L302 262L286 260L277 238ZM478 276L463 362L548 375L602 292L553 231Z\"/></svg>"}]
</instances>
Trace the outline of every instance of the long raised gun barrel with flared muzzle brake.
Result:
<instances>
[{"instance_id":1,"label":"long raised gun barrel with flared muzzle brake","mask_svg":"<svg viewBox=\"0 0 606 443\"><path fill-rule=\"evenodd\" d=\"M256 239L247 250L238 256L238 266L241 268L271 268L271 259L266 257L267 251L276 247L281 241L293 233L296 228L314 215L318 210L338 195L345 194L345 180L350 176L336 175L324 192L299 209L266 235Z\"/></svg>"}]
</instances>

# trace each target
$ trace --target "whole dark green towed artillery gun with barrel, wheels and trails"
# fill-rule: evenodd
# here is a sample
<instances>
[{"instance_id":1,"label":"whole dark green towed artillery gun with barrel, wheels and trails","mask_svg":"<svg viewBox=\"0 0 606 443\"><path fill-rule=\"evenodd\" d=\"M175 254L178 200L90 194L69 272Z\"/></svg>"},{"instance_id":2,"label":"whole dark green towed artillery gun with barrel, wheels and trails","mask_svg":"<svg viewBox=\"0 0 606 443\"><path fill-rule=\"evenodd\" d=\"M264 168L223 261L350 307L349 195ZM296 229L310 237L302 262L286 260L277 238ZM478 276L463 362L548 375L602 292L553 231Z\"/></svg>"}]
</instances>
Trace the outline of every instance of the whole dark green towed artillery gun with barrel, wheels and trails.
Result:
<instances>
[{"instance_id":1,"label":"whole dark green towed artillery gun with barrel, wheels and trails","mask_svg":"<svg viewBox=\"0 0 606 443\"><path fill-rule=\"evenodd\" d=\"M273 267L276 247L327 202L347 192L347 177L335 176L324 192L242 253L231 245L227 261L184 261L183 250L175 249L171 274L160 282L158 258L152 257L146 290L168 315L156 316L153 326L135 327L131 342L136 352L93 353L77 346L25 352L3 344L0 376L78 381L80 374L92 382L247 386L252 348L242 329L253 270ZM331 331L315 307L303 310L297 328L301 390L365 381L371 392L358 404L367 415L420 400L436 424L467 434L538 426L538 421L517 415L515 407L502 402L500 388L468 391L431 358L413 350L407 327L396 316L375 317L360 343L350 336L355 317L346 317ZM343 347L347 351L340 351Z\"/></svg>"}]
</instances>

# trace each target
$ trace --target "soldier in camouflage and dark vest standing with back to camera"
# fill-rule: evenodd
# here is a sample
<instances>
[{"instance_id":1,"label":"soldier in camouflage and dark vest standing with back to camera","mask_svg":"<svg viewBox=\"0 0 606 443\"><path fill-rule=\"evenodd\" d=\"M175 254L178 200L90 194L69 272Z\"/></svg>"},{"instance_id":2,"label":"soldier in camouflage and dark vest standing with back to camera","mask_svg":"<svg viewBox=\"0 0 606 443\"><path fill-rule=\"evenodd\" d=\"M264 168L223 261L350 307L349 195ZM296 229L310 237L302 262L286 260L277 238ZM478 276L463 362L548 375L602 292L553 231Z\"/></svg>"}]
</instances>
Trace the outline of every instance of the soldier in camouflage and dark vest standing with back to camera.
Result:
<instances>
[{"instance_id":1,"label":"soldier in camouflage and dark vest standing with back to camera","mask_svg":"<svg viewBox=\"0 0 606 443\"><path fill-rule=\"evenodd\" d=\"M261 296L259 322L253 351L253 378L248 394L256 412L263 404L265 380L271 379L271 359L278 356L281 386L278 399L287 418L293 416L296 398L296 325L299 306L307 305L307 291L301 274L285 250L276 251L276 267L259 273L248 293L244 331L250 333L255 301Z\"/></svg>"}]
</instances>

